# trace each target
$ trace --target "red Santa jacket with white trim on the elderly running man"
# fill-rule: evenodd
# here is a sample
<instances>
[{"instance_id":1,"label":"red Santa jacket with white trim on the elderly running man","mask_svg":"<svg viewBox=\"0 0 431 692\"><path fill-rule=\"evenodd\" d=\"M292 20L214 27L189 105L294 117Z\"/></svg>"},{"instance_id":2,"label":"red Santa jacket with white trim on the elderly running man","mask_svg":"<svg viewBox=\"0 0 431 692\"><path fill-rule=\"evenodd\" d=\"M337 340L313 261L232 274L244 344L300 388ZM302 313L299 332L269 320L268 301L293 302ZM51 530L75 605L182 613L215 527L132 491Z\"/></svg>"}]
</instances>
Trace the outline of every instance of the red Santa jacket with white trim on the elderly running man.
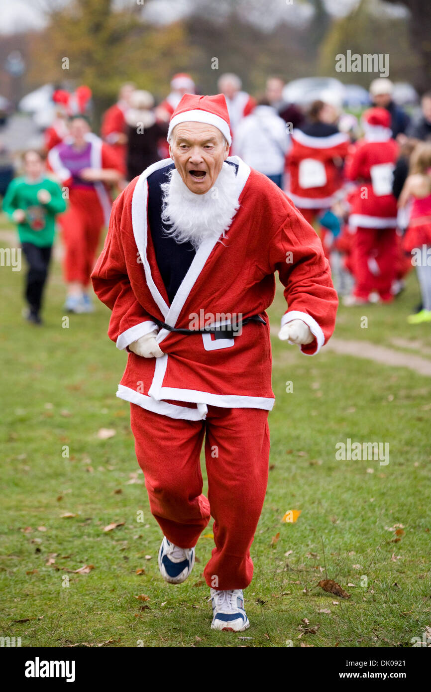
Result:
<instances>
[{"instance_id":1,"label":"red Santa jacket with white trim on the elderly running man","mask_svg":"<svg viewBox=\"0 0 431 692\"><path fill-rule=\"evenodd\" d=\"M313 228L266 176L237 156L240 207L223 242L199 246L172 304L155 261L147 219L147 177L172 165L165 159L129 183L116 199L104 249L91 275L98 298L112 311L109 337L119 349L156 327L153 318L190 329L203 313L212 323L260 314L240 336L183 335L162 328L164 354L142 358L129 352L117 396L174 418L205 418L208 404L273 408L266 309L275 294L275 271L285 286L288 310L282 324L300 318L315 338L301 347L315 354L335 326L338 297L329 264ZM203 313L201 313L203 311ZM194 322L194 326L196 322Z\"/></svg>"}]
</instances>

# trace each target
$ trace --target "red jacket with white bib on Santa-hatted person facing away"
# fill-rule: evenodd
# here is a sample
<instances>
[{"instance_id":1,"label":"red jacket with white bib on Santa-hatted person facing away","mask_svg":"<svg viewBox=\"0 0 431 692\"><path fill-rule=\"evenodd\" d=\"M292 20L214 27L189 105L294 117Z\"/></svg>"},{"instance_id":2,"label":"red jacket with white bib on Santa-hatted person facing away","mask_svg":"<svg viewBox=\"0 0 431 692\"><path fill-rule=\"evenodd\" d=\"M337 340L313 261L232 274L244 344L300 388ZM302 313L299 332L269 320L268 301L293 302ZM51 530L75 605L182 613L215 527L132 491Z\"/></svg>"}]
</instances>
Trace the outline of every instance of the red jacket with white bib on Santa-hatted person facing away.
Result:
<instances>
[{"instance_id":1,"label":"red jacket with white bib on Santa-hatted person facing away","mask_svg":"<svg viewBox=\"0 0 431 692\"><path fill-rule=\"evenodd\" d=\"M348 180L359 185L351 195L349 226L390 228L396 226L396 199L392 194L392 172L398 144L392 138L364 138L351 149L345 165Z\"/></svg>"}]
</instances>

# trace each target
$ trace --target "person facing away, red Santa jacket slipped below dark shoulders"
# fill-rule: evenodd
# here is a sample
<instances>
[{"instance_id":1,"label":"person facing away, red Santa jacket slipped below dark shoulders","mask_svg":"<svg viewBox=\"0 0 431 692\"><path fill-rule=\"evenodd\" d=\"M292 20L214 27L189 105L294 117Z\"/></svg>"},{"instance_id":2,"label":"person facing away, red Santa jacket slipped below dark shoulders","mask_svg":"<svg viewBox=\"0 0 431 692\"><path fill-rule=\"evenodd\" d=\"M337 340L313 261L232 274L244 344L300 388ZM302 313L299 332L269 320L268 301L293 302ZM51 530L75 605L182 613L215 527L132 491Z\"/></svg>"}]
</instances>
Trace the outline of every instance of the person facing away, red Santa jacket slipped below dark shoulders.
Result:
<instances>
[{"instance_id":1,"label":"person facing away, red Santa jacket slipped below dark shoulders","mask_svg":"<svg viewBox=\"0 0 431 692\"><path fill-rule=\"evenodd\" d=\"M332 104L314 101L291 136L288 196L310 224L343 196L341 170L350 139L333 124L336 116Z\"/></svg>"}]
</instances>

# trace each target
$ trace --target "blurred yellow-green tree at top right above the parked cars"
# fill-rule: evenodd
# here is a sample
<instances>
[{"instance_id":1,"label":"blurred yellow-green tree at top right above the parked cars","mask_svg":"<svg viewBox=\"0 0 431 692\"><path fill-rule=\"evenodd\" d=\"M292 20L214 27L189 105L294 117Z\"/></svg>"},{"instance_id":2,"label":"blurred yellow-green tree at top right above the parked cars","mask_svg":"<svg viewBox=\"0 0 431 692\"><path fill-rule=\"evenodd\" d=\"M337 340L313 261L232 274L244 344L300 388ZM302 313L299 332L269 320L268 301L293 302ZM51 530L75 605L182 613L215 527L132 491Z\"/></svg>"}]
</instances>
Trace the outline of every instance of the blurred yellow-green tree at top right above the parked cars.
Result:
<instances>
[{"instance_id":1,"label":"blurred yellow-green tree at top right above the parked cars","mask_svg":"<svg viewBox=\"0 0 431 692\"><path fill-rule=\"evenodd\" d=\"M379 8L380 4L380 8ZM419 59L409 48L408 28L404 19L382 11L381 3L361 0L346 17L333 22L320 48L321 75L336 77L346 84L368 88L378 73L337 72L336 56L377 53L389 54L389 76L396 81L412 81Z\"/></svg>"}]
</instances>

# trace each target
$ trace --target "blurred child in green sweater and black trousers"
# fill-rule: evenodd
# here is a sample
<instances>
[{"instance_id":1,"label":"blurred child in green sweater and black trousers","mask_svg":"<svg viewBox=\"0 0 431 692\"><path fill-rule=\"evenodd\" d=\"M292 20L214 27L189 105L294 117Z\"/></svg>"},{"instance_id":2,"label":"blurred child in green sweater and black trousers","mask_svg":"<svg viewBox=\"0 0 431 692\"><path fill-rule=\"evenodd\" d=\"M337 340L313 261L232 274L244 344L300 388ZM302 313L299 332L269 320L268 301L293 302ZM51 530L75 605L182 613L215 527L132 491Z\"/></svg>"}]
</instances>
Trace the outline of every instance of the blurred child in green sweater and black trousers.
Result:
<instances>
[{"instance_id":1,"label":"blurred child in green sweater and black trousers","mask_svg":"<svg viewBox=\"0 0 431 692\"><path fill-rule=\"evenodd\" d=\"M24 154L25 175L10 183L3 199L3 211L15 221L21 248L28 262L26 277L26 319L41 325L42 293L48 276L55 236L55 216L66 210L62 190L46 177L42 154Z\"/></svg>"}]
</instances>

